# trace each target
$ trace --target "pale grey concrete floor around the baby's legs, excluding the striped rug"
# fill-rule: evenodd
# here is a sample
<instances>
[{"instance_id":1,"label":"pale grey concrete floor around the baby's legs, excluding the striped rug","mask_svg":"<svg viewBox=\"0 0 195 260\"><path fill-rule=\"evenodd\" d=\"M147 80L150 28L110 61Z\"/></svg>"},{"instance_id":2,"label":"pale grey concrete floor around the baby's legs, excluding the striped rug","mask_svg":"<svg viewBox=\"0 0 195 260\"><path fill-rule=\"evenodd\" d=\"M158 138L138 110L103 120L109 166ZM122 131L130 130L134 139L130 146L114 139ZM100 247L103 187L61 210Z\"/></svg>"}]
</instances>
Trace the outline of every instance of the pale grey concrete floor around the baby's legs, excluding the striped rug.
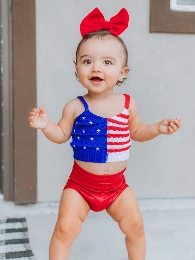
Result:
<instances>
[{"instance_id":1,"label":"pale grey concrete floor around the baby's legs, excluding the striped rug","mask_svg":"<svg viewBox=\"0 0 195 260\"><path fill-rule=\"evenodd\" d=\"M139 200L147 237L146 260L195 260L195 199ZM0 200L0 218L27 218L36 260L48 260L58 203L16 206ZM70 260L127 260L124 235L106 211L90 212Z\"/></svg>"}]
</instances>

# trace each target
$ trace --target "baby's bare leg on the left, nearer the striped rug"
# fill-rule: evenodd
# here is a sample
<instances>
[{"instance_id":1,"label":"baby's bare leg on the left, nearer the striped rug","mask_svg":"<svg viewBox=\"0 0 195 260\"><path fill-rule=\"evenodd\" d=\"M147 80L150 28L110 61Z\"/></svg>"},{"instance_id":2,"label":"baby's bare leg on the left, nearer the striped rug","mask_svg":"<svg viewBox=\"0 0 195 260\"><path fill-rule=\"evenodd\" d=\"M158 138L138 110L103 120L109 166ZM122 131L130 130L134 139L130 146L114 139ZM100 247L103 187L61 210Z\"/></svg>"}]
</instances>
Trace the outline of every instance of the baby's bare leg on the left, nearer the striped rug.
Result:
<instances>
[{"instance_id":1,"label":"baby's bare leg on the left, nearer the striped rug","mask_svg":"<svg viewBox=\"0 0 195 260\"><path fill-rule=\"evenodd\" d=\"M89 210L88 203L77 191L73 189L63 191L58 220L50 242L50 260L68 259L71 245L79 235Z\"/></svg>"}]
</instances>

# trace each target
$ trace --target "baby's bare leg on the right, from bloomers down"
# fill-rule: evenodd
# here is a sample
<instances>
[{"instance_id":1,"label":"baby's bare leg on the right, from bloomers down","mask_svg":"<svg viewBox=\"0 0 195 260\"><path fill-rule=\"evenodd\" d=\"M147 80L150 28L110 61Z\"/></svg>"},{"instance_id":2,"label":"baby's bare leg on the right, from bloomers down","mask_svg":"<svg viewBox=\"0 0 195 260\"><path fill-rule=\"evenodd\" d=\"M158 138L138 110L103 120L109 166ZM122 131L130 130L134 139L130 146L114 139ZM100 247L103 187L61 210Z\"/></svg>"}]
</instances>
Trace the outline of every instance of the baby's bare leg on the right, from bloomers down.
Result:
<instances>
[{"instance_id":1,"label":"baby's bare leg on the right, from bloomers down","mask_svg":"<svg viewBox=\"0 0 195 260\"><path fill-rule=\"evenodd\" d=\"M120 229L126 235L129 260L144 260L146 241L143 220L131 189L125 189L108 207L107 212L118 222Z\"/></svg>"}]
</instances>

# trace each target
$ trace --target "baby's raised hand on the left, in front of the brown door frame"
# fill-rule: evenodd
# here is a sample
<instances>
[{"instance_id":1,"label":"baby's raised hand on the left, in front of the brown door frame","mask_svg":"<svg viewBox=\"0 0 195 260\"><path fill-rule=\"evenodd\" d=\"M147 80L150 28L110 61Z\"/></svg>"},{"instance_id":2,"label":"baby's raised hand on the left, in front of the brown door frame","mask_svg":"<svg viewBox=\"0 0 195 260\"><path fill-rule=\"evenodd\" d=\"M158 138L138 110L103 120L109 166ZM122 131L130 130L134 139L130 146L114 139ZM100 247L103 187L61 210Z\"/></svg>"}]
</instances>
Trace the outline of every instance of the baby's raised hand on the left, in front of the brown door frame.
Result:
<instances>
[{"instance_id":1,"label":"baby's raised hand on the left, in front of the brown door frame","mask_svg":"<svg viewBox=\"0 0 195 260\"><path fill-rule=\"evenodd\" d=\"M28 117L29 125L44 130L49 123L47 112L44 108L33 108Z\"/></svg>"}]
</instances>

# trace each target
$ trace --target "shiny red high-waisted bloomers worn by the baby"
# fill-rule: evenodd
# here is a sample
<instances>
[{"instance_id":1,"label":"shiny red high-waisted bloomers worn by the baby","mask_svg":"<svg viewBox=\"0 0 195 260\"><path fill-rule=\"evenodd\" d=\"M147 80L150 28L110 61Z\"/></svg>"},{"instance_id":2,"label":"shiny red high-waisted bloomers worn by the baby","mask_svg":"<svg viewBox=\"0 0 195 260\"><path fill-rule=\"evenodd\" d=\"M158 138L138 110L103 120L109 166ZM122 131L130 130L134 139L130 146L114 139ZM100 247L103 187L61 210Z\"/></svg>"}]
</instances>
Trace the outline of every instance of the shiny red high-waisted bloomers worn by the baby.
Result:
<instances>
[{"instance_id":1,"label":"shiny red high-waisted bloomers worn by the baby","mask_svg":"<svg viewBox=\"0 0 195 260\"><path fill-rule=\"evenodd\" d=\"M125 170L115 174L98 175L84 170L74 162L64 189L76 190L89 204L91 210L102 211L129 187L124 177Z\"/></svg>"}]
</instances>

